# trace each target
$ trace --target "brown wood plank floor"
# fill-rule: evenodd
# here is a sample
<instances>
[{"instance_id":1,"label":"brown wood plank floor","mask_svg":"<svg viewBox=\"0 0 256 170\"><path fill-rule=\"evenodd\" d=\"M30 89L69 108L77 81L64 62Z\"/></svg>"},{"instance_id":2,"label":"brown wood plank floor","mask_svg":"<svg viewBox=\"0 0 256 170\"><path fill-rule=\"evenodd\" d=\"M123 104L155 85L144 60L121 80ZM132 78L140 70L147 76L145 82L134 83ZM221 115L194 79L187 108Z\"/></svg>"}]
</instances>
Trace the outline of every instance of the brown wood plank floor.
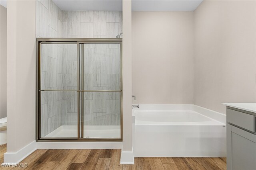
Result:
<instances>
[{"instance_id":1,"label":"brown wood plank floor","mask_svg":"<svg viewBox=\"0 0 256 170\"><path fill-rule=\"evenodd\" d=\"M0 146L0 163L6 145ZM120 163L120 149L36 150L20 163L35 170L225 170L226 158L135 158L134 165Z\"/></svg>"}]
</instances>

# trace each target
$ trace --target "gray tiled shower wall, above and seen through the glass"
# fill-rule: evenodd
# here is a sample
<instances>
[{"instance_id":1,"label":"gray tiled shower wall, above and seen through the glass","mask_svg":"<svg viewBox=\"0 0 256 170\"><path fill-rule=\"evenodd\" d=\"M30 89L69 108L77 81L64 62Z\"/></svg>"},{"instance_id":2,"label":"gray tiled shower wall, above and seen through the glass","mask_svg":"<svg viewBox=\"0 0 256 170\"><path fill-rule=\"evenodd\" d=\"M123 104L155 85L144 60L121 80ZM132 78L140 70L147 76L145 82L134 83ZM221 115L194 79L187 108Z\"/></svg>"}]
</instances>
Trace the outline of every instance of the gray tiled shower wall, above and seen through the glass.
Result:
<instances>
[{"instance_id":1,"label":"gray tiled shower wall, above and seen through the glass","mask_svg":"<svg viewBox=\"0 0 256 170\"><path fill-rule=\"evenodd\" d=\"M122 12L63 11L52 0L36 2L36 37L115 38L120 32ZM85 57L92 59L86 65L85 58L85 89L119 89L119 51L115 45L85 45ZM44 45L42 89L77 89L76 65L76 45ZM42 137L61 125L77 125L76 92L42 92L41 108ZM120 125L119 113L118 92L84 94L85 125Z\"/></svg>"}]
</instances>

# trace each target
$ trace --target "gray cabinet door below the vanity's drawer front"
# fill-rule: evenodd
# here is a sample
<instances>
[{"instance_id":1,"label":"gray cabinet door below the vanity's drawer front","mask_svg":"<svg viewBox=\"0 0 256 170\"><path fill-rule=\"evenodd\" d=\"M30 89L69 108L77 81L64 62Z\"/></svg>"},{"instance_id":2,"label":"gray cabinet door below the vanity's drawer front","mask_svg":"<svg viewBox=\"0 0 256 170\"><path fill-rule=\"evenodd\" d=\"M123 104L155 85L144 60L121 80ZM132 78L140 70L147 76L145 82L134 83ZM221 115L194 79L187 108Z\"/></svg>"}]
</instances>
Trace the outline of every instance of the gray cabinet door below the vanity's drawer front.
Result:
<instances>
[{"instance_id":1,"label":"gray cabinet door below the vanity's drawer front","mask_svg":"<svg viewBox=\"0 0 256 170\"><path fill-rule=\"evenodd\" d=\"M256 170L256 135L231 126L231 156L232 170ZM230 167L228 168L230 169Z\"/></svg>"}]
</instances>

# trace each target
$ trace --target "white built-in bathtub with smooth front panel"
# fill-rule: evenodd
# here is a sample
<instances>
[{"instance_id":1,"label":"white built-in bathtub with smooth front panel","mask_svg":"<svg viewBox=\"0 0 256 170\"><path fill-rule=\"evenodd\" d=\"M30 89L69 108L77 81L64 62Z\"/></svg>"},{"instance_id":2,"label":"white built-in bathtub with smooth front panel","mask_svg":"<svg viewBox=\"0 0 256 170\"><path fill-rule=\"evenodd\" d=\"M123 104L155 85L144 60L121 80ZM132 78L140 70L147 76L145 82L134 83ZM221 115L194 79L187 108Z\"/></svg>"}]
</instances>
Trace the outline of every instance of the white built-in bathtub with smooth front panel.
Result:
<instances>
[{"instance_id":1,"label":"white built-in bathtub with smooth front panel","mask_svg":"<svg viewBox=\"0 0 256 170\"><path fill-rule=\"evenodd\" d=\"M226 115L196 105L133 109L135 157L225 157Z\"/></svg>"}]
</instances>

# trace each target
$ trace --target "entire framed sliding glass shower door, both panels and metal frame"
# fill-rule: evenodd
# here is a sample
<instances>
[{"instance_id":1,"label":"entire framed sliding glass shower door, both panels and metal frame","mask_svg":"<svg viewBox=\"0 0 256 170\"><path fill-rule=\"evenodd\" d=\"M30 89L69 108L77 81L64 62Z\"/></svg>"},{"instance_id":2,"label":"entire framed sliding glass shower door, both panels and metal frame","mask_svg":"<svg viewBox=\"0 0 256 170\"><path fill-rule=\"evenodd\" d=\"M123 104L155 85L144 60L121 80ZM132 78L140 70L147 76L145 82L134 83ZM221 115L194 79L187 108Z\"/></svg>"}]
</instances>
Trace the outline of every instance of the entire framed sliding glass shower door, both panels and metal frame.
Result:
<instances>
[{"instance_id":1,"label":"entire framed sliding glass shower door, both panels and metal frame","mask_svg":"<svg viewBox=\"0 0 256 170\"><path fill-rule=\"evenodd\" d=\"M37 141L122 141L122 38L37 38Z\"/></svg>"}]
</instances>

